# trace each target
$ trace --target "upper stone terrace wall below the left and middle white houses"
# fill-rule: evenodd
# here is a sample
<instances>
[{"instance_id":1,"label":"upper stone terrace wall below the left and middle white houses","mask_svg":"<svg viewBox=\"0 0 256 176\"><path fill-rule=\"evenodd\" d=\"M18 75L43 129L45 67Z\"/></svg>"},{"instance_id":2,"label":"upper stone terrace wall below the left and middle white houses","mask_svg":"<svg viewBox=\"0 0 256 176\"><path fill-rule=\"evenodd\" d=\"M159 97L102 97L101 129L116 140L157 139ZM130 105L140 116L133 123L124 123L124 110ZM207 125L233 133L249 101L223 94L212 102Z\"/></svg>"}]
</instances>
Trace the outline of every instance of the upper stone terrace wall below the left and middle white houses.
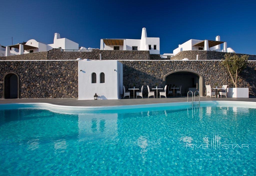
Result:
<instances>
[{"instance_id":1,"label":"upper stone terrace wall below the left and middle white houses","mask_svg":"<svg viewBox=\"0 0 256 176\"><path fill-rule=\"evenodd\" d=\"M149 51L93 49L91 52L78 52L61 51L59 48L15 56L2 56L0 60L76 60L77 58L99 60L100 53L103 60L150 60Z\"/></svg>"}]
</instances>

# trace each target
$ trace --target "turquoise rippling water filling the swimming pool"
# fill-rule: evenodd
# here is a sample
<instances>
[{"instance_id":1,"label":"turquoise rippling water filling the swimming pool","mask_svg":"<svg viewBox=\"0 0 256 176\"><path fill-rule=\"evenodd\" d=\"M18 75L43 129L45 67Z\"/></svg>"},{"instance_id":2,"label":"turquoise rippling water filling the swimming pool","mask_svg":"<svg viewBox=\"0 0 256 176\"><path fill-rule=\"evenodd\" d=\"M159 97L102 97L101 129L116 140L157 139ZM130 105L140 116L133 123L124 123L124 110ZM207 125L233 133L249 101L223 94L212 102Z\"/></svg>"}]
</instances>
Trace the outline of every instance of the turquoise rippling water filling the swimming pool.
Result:
<instances>
[{"instance_id":1,"label":"turquoise rippling water filling the swimming pool","mask_svg":"<svg viewBox=\"0 0 256 176\"><path fill-rule=\"evenodd\" d=\"M0 175L255 175L256 109L0 110Z\"/></svg>"}]
</instances>

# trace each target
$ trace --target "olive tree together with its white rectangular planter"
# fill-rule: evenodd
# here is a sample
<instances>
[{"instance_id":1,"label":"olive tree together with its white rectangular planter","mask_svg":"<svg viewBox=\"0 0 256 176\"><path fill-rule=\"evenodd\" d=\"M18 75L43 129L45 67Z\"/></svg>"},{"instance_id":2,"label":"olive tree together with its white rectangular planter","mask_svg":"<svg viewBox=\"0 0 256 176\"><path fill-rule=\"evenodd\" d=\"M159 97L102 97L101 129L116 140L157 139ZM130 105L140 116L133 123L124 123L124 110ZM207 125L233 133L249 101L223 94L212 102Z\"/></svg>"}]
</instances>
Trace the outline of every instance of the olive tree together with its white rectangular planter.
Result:
<instances>
[{"instance_id":1,"label":"olive tree together with its white rectangular planter","mask_svg":"<svg viewBox=\"0 0 256 176\"><path fill-rule=\"evenodd\" d=\"M248 98L249 97L249 88L239 88L237 86L240 73L247 67L247 61L249 56L243 55L238 56L234 54L233 56L225 54L225 60L222 59L221 64L228 70L230 78L234 87L228 88L228 97L235 98Z\"/></svg>"}]
</instances>

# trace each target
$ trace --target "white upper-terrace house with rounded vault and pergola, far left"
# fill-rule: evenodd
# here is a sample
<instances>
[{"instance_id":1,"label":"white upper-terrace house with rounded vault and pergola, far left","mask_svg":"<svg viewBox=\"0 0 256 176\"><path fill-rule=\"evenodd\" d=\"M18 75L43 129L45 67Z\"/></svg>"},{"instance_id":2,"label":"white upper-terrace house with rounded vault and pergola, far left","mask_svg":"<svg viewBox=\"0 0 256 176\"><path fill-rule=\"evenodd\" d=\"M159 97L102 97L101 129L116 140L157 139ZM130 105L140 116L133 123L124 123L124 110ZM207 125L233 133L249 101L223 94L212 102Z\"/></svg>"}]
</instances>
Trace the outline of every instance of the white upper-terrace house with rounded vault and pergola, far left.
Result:
<instances>
[{"instance_id":1,"label":"white upper-terrace house with rounded vault and pergola, far left","mask_svg":"<svg viewBox=\"0 0 256 176\"><path fill-rule=\"evenodd\" d=\"M44 44L30 39L27 42L17 43L16 45L7 46L5 49L5 56L26 54L32 52L48 51L52 48L62 48L65 51L78 51L78 43L67 38L60 38L60 34L55 33L52 44Z\"/></svg>"}]
</instances>

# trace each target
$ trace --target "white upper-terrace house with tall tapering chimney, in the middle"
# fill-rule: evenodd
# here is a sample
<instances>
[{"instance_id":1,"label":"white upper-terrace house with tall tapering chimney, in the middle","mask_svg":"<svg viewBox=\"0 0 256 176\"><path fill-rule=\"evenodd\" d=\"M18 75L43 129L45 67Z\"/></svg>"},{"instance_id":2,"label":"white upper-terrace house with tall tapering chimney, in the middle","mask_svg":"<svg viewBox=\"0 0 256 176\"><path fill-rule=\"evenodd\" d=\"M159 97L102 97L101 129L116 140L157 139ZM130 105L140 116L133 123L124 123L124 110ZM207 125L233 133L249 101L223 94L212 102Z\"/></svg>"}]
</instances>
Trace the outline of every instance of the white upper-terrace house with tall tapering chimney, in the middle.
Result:
<instances>
[{"instance_id":1,"label":"white upper-terrace house with tall tapering chimney, in the middle","mask_svg":"<svg viewBox=\"0 0 256 176\"><path fill-rule=\"evenodd\" d=\"M150 54L160 54L160 39L147 37L146 28L142 28L141 39L101 39L101 50L146 50Z\"/></svg>"}]
</instances>

